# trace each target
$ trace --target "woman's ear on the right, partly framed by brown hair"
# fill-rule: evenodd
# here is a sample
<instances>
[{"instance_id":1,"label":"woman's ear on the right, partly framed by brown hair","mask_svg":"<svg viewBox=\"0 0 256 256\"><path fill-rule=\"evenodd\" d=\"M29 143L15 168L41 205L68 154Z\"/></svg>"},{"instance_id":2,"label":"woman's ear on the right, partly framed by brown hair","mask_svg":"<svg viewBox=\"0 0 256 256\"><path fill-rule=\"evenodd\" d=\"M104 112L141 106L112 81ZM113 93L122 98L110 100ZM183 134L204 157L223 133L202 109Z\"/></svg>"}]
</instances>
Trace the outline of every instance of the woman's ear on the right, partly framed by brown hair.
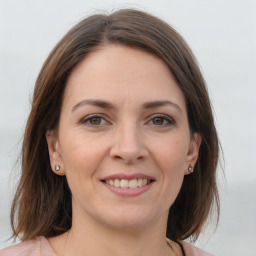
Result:
<instances>
[{"instance_id":1,"label":"woman's ear on the right, partly framed by brown hair","mask_svg":"<svg viewBox=\"0 0 256 256\"><path fill-rule=\"evenodd\" d=\"M185 169L186 175L191 173L188 171L189 165L191 165L192 168L194 168L196 164L201 142L202 142L202 137L199 133L194 133L193 136L191 136L189 149L187 153L187 163L186 163L187 167Z\"/></svg>"}]
</instances>

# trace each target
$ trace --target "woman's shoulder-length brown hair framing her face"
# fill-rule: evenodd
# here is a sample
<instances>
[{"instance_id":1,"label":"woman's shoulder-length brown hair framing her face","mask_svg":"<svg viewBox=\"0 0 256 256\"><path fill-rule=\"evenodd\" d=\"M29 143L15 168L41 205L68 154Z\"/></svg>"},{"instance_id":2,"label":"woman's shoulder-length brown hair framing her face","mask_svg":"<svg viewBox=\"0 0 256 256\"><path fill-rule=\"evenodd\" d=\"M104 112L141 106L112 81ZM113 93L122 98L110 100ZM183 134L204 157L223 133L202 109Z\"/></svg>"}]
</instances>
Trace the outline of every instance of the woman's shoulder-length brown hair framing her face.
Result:
<instances>
[{"instance_id":1,"label":"woman's shoulder-length brown hair framing her face","mask_svg":"<svg viewBox=\"0 0 256 256\"><path fill-rule=\"evenodd\" d=\"M82 20L57 44L42 67L25 129L22 174L11 210L14 238L51 237L70 229L71 192L66 177L51 170L45 133L58 127L65 85L74 67L97 47L112 43L144 49L166 63L185 96L191 133L202 137L194 174L185 176L170 207L167 237L196 239L214 206L218 216L219 141L196 60L168 24L147 13L124 9Z\"/></svg>"}]
</instances>

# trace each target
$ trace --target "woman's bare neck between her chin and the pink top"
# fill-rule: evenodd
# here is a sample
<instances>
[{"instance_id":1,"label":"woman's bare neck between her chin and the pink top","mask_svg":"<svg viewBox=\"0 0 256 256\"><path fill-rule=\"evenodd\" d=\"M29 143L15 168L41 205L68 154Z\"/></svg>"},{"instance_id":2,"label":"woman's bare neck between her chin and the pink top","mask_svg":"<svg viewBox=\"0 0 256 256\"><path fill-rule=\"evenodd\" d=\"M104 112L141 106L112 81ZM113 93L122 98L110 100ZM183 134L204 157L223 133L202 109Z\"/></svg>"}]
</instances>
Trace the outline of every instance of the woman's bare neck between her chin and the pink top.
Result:
<instances>
[{"instance_id":1,"label":"woman's bare neck between her chin and the pink top","mask_svg":"<svg viewBox=\"0 0 256 256\"><path fill-rule=\"evenodd\" d=\"M60 256L170 256L173 252L166 243L165 230L165 221L124 230L103 226L93 219L78 222L74 218L70 231L58 243L50 243Z\"/></svg>"}]
</instances>

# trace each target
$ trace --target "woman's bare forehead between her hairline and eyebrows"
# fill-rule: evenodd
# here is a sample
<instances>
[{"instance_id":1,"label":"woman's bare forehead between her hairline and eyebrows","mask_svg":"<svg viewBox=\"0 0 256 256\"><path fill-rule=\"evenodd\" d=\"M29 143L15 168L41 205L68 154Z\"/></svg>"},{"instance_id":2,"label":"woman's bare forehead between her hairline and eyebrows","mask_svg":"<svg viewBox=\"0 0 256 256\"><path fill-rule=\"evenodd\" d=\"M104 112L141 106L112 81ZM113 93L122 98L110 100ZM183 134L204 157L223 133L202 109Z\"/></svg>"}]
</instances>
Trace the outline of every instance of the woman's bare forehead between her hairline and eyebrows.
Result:
<instances>
[{"instance_id":1,"label":"woman's bare forehead between her hairline and eyebrows","mask_svg":"<svg viewBox=\"0 0 256 256\"><path fill-rule=\"evenodd\" d=\"M64 101L85 97L134 103L171 97L185 107L183 93L167 65L153 54L123 45L107 45L91 52L72 71Z\"/></svg>"}]
</instances>

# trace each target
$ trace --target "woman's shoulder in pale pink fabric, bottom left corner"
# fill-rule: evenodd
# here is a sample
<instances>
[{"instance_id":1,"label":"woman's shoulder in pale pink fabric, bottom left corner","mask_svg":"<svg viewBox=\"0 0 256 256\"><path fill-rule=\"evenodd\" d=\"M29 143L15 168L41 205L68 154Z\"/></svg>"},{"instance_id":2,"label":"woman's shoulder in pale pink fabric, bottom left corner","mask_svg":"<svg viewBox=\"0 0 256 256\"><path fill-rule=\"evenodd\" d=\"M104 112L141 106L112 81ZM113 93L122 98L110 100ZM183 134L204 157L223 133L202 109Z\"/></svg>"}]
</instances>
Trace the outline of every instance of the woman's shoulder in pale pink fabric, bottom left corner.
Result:
<instances>
[{"instance_id":1,"label":"woman's shoulder in pale pink fabric, bottom left corner","mask_svg":"<svg viewBox=\"0 0 256 256\"><path fill-rule=\"evenodd\" d=\"M45 237L21 242L0 250L0 256L56 256Z\"/></svg>"}]
</instances>

